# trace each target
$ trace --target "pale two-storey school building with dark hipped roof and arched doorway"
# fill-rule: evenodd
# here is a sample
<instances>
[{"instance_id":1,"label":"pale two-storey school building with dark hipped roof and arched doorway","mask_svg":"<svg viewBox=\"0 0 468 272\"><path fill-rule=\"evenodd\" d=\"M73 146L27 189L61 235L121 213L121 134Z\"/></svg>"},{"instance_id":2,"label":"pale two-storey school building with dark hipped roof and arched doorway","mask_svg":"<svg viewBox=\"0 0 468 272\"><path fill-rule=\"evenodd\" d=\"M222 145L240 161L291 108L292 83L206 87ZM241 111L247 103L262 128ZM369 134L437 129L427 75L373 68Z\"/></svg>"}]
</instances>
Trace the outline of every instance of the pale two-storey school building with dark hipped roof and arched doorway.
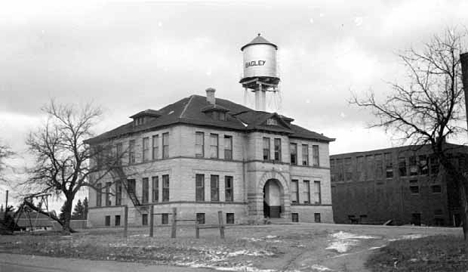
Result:
<instances>
[{"instance_id":1,"label":"pale two-storey school building with dark hipped roof and arched doorway","mask_svg":"<svg viewBox=\"0 0 468 272\"><path fill-rule=\"evenodd\" d=\"M123 175L110 173L101 193L89 192L92 226L156 224L178 217L226 223L265 217L333 222L329 143L334 139L292 124L293 119L255 111L224 99L192 95L87 141L111 144ZM93 161L92 164L99 162ZM91 177L93 178L93 177Z\"/></svg>"}]
</instances>

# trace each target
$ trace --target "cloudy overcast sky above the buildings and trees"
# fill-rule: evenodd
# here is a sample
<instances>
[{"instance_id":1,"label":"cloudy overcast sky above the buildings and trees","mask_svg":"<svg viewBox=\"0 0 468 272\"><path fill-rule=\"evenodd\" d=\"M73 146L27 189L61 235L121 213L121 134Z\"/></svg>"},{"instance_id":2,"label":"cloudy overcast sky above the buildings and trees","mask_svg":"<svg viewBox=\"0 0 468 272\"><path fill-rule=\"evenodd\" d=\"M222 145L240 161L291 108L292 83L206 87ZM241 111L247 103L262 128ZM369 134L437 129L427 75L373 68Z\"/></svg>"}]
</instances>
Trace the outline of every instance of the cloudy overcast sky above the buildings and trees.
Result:
<instances>
[{"instance_id":1,"label":"cloudy overcast sky above the buildings and trees","mask_svg":"<svg viewBox=\"0 0 468 272\"><path fill-rule=\"evenodd\" d=\"M0 139L19 153L50 98L102 106L97 133L208 87L244 103L240 47L257 33L278 45L270 108L336 138L332 154L391 147L351 90L385 95L396 52L468 26L463 0L63 2L0 4Z\"/></svg>"}]
</instances>

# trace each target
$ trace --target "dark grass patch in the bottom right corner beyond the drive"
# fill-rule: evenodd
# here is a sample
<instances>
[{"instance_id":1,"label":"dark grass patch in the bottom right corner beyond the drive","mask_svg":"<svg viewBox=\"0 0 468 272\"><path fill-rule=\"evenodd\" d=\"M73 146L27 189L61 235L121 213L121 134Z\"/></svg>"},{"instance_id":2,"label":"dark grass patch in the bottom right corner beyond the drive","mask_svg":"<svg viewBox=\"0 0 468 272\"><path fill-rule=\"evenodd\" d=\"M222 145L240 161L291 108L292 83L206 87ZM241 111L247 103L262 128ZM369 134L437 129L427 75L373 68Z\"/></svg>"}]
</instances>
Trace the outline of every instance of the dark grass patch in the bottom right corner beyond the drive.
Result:
<instances>
[{"instance_id":1,"label":"dark grass patch in the bottom right corner beyond the drive","mask_svg":"<svg viewBox=\"0 0 468 272\"><path fill-rule=\"evenodd\" d=\"M467 245L460 236L393 241L372 254L366 266L386 271L468 271Z\"/></svg>"}]
</instances>

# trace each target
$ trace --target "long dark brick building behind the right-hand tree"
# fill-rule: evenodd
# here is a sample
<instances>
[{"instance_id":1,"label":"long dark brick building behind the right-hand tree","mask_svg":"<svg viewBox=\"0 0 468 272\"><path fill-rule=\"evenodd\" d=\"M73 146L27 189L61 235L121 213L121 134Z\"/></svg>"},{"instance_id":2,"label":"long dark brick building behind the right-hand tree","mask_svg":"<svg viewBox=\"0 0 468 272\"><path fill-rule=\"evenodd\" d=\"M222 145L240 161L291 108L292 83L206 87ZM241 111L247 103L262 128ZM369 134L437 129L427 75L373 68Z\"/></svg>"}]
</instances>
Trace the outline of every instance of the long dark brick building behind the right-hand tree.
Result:
<instances>
[{"instance_id":1,"label":"long dark brick building behind the right-hand tree","mask_svg":"<svg viewBox=\"0 0 468 272\"><path fill-rule=\"evenodd\" d=\"M447 144L466 171L468 149ZM330 157L336 223L458 226L460 201L430 146L404 146Z\"/></svg>"}]
</instances>

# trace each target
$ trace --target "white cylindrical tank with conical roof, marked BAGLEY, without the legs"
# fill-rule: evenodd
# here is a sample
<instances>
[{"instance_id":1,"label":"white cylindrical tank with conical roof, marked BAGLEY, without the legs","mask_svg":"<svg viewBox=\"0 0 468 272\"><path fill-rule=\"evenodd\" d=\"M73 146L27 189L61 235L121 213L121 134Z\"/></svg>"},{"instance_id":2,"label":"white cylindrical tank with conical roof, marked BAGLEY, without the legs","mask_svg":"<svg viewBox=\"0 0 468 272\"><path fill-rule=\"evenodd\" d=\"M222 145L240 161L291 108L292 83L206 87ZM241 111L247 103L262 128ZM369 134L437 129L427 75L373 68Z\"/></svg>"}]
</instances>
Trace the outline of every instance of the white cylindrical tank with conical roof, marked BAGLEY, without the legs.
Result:
<instances>
[{"instance_id":1,"label":"white cylindrical tank with conical roof, marked BAGLEY, without the legs","mask_svg":"<svg viewBox=\"0 0 468 272\"><path fill-rule=\"evenodd\" d=\"M260 34L250 43L242 46L244 73L240 83L245 88L255 89L258 81L272 85L279 83L276 64L277 50L278 47L275 44L267 41Z\"/></svg>"}]
</instances>

